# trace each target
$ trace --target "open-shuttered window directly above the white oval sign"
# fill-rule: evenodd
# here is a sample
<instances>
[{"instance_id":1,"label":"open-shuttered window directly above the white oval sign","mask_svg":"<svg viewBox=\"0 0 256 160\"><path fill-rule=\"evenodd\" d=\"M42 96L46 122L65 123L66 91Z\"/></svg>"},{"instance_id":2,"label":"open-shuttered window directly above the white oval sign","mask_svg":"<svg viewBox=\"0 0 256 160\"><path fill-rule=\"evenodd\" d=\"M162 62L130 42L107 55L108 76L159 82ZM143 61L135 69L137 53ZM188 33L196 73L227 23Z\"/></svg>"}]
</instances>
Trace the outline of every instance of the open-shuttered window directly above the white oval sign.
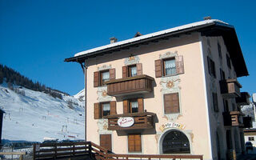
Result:
<instances>
[{"instance_id":1,"label":"open-shuttered window directly above the white oval sign","mask_svg":"<svg viewBox=\"0 0 256 160\"><path fill-rule=\"evenodd\" d=\"M129 99L129 100L123 101L123 113L124 114L138 113L138 112L144 112L142 98Z\"/></svg>"}]
</instances>

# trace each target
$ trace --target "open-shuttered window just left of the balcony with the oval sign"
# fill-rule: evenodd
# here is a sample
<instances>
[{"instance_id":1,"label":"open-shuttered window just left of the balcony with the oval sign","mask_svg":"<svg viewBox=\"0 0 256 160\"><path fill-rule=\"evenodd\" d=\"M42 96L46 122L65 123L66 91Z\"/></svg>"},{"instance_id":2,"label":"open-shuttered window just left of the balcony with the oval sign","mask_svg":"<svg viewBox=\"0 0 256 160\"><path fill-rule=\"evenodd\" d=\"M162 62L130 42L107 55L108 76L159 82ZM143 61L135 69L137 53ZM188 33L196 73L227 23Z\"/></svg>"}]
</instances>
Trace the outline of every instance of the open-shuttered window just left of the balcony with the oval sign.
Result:
<instances>
[{"instance_id":1,"label":"open-shuttered window just left of the balcony with the oval sign","mask_svg":"<svg viewBox=\"0 0 256 160\"><path fill-rule=\"evenodd\" d=\"M104 116L114 114L117 114L115 101L94 103L94 119L104 118Z\"/></svg>"}]
</instances>

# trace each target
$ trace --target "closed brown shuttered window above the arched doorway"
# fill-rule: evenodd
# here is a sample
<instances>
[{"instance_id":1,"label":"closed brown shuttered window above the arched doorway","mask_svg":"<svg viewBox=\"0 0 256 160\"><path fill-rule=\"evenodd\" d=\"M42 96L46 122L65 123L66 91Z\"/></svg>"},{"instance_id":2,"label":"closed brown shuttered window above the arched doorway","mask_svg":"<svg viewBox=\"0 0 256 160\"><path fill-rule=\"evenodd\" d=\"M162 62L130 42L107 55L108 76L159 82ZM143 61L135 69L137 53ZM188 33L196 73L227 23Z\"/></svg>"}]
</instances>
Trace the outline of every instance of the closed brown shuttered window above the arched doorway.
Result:
<instances>
[{"instance_id":1,"label":"closed brown shuttered window above the arched doorway","mask_svg":"<svg viewBox=\"0 0 256 160\"><path fill-rule=\"evenodd\" d=\"M164 110L165 114L179 113L178 93L164 94Z\"/></svg>"}]
</instances>

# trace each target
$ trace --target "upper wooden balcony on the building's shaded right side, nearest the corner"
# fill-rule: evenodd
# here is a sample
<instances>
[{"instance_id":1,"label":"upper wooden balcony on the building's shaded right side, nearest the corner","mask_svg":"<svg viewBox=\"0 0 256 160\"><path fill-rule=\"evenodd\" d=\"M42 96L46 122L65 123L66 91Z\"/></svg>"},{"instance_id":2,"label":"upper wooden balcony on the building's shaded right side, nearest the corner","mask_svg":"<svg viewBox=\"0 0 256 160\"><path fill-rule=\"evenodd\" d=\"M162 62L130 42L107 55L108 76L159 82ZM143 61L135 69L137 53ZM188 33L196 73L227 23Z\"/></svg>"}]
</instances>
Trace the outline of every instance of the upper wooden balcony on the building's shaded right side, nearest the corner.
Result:
<instances>
[{"instance_id":1,"label":"upper wooden balcony on the building's shaded right side, nearest the corner","mask_svg":"<svg viewBox=\"0 0 256 160\"><path fill-rule=\"evenodd\" d=\"M223 98L240 97L240 88L242 86L236 79L226 79L220 81L220 88Z\"/></svg>"}]
</instances>

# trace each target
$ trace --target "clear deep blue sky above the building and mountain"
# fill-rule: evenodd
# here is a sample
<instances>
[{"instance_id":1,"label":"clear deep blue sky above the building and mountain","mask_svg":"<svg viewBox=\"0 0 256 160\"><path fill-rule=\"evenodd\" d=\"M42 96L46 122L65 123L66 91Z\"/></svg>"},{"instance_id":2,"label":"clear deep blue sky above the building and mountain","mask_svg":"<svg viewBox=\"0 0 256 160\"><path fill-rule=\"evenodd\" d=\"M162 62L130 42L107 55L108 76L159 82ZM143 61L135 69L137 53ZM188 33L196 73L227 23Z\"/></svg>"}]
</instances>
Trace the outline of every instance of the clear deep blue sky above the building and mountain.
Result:
<instances>
[{"instance_id":1,"label":"clear deep blue sky above the building and mountain","mask_svg":"<svg viewBox=\"0 0 256 160\"><path fill-rule=\"evenodd\" d=\"M1 0L0 63L34 81L76 94L84 86L78 63L64 62L82 50L139 31L150 34L210 15L233 25L250 76L242 91L256 93L256 1Z\"/></svg>"}]
</instances>

